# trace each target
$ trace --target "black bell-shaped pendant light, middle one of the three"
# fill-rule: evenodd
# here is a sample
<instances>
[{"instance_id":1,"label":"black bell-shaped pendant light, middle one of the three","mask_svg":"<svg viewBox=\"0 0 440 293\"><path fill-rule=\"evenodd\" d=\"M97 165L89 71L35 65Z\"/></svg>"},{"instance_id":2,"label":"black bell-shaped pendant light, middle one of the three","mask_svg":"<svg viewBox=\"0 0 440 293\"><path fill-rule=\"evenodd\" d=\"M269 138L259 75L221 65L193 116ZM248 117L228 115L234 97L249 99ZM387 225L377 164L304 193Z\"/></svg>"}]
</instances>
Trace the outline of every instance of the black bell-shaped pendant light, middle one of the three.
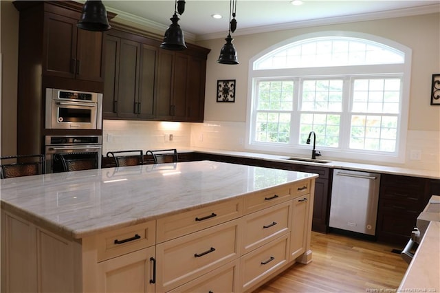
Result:
<instances>
[{"instance_id":1,"label":"black bell-shaped pendant light, middle one of the three","mask_svg":"<svg viewBox=\"0 0 440 293\"><path fill-rule=\"evenodd\" d=\"M162 49L166 50L185 50L185 39L184 32L182 32L180 25L177 23L179 21L179 17L177 17L177 13L180 15L185 11L185 1L184 0L175 0L175 8L173 17L170 18L171 24L166 29L164 35L164 42L160 44Z\"/></svg>"}]
</instances>

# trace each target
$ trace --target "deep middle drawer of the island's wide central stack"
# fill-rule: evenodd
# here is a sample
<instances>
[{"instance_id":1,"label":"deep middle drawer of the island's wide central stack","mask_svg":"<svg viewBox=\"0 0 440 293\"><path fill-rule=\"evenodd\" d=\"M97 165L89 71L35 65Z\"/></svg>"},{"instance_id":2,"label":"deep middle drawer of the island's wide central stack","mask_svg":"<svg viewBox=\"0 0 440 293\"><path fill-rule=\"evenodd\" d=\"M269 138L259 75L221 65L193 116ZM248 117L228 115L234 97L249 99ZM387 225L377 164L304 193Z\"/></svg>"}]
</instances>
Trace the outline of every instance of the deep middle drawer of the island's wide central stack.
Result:
<instances>
[{"instance_id":1,"label":"deep middle drawer of the island's wide central stack","mask_svg":"<svg viewBox=\"0 0 440 293\"><path fill-rule=\"evenodd\" d=\"M239 219L156 246L157 292L166 292L239 258Z\"/></svg>"}]
</instances>

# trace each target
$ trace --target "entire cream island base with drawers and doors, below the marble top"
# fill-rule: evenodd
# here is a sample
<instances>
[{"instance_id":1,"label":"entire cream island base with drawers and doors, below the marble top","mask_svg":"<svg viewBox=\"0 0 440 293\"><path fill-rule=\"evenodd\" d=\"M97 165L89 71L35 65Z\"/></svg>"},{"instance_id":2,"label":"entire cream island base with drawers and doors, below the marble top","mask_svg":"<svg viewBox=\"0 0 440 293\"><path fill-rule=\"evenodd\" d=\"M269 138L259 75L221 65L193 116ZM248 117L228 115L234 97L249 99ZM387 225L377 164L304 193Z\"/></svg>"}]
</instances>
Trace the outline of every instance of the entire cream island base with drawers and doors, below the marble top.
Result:
<instances>
[{"instance_id":1,"label":"entire cream island base with drawers and doors, below the marble top","mask_svg":"<svg viewBox=\"0 0 440 293\"><path fill-rule=\"evenodd\" d=\"M252 292L311 261L314 181L82 239L2 209L1 292Z\"/></svg>"}]
</instances>

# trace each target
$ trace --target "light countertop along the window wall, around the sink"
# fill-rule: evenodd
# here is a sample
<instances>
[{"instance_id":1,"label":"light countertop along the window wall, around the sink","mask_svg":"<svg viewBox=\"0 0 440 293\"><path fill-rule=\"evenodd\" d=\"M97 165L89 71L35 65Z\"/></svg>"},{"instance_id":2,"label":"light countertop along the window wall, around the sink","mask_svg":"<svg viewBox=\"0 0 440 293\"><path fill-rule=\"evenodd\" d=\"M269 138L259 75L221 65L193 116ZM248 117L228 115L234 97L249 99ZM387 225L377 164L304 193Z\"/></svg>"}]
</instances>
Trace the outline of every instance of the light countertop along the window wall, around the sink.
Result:
<instances>
[{"instance_id":1,"label":"light countertop along the window wall, around the sink","mask_svg":"<svg viewBox=\"0 0 440 293\"><path fill-rule=\"evenodd\" d=\"M310 166L321 166L328 167L334 169L349 169L353 171L366 171L366 172L377 172L382 174L391 174L391 175L404 175L404 176L413 176L413 177L423 177L430 179L440 180L440 171L433 170L424 170L424 169L408 169L401 168L397 166L383 166L376 164L362 164L355 162L341 162L338 160L329 160L329 163L318 163L318 162L301 162L301 161L292 161L287 160L289 158L288 155L271 155L265 153L250 153L245 151L227 151L221 149L203 149L203 148L193 148L193 149L178 149L179 152L191 152L197 151L199 153L212 153L217 155L230 155L234 157L241 158L255 158L260 160L270 160L272 162L283 162L283 163L291 163L291 164L305 164ZM298 157L303 157L298 155ZM318 158L319 160L327 160L325 158Z\"/></svg>"}]
</instances>

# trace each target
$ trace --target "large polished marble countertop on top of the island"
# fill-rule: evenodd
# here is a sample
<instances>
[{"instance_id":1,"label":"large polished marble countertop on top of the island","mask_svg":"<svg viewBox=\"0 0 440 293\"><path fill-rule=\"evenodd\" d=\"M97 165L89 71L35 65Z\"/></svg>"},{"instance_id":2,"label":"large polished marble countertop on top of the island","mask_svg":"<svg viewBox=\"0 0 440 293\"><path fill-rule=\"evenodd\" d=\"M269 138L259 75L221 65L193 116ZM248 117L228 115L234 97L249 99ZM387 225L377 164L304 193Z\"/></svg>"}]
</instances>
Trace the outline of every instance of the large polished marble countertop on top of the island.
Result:
<instances>
[{"instance_id":1,"label":"large polished marble countertop on top of the island","mask_svg":"<svg viewBox=\"0 0 440 293\"><path fill-rule=\"evenodd\" d=\"M180 162L1 180L1 208L80 239L254 191L318 177L221 162Z\"/></svg>"}]
</instances>

